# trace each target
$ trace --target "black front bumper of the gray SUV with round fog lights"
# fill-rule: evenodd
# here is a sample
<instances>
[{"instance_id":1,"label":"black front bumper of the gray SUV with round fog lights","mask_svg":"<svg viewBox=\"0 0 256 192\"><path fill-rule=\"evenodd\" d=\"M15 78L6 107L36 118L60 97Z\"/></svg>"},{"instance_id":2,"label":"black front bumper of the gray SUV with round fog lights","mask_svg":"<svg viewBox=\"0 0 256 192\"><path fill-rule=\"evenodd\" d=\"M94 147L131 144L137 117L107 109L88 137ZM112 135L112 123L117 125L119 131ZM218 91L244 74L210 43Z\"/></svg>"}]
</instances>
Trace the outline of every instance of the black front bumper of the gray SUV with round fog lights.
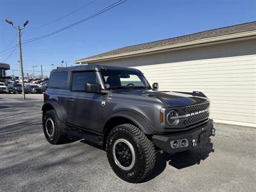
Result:
<instances>
[{"instance_id":1,"label":"black front bumper of the gray SUV with round fog lights","mask_svg":"<svg viewBox=\"0 0 256 192\"><path fill-rule=\"evenodd\" d=\"M174 154L189 150L200 143L200 141L215 135L213 120L196 127L191 131L173 133L169 135L154 135L152 141L154 145L161 148L168 154ZM182 145L184 141L184 145Z\"/></svg>"}]
</instances>

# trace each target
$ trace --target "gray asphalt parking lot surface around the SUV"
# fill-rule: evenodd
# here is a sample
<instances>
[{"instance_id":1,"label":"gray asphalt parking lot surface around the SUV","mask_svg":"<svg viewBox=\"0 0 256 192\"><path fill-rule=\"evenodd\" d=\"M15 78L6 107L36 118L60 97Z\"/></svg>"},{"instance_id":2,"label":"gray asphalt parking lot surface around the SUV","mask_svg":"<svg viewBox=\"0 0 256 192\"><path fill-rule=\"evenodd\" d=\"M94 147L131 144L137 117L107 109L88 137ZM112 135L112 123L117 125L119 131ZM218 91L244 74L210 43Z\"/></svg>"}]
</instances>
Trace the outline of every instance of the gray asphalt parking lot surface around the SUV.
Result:
<instances>
[{"instance_id":1,"label":"gray asphalt parking lot surface around the SUV","mask_svg":"<svg viewBox=\"0 0 256 192\"><path fill-rule=\"evenodd\" d=\"M0 191L256 191L256 129L216 124L212 146L158 154L152 177L129 184L95 145L47 143L43 95L26 96L0 94Z\"/></svg>"}]
</instances>

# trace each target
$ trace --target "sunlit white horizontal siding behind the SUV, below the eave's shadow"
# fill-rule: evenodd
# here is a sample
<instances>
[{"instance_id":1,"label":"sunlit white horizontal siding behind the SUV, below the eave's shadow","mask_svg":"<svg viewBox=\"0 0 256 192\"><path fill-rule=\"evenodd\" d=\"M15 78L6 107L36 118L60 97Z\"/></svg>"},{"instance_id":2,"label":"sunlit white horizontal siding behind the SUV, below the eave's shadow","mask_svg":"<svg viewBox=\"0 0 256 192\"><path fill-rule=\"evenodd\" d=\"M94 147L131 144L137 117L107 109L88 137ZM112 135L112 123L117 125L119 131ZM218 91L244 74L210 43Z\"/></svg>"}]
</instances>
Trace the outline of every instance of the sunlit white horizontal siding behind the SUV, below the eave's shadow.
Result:
<instances>
[{"instance_id":1,"label":"sunlit white horizontal siding behind the SUV, below the eave's shadow","mask_svg":"<svg viewBox=\"0 0 256 192\"><path fill-rule=\"evenodd\" d=\"M256 55L135 67L159 90L200 91L215 122L256 127Z\"/></svg>"}]
</instances>

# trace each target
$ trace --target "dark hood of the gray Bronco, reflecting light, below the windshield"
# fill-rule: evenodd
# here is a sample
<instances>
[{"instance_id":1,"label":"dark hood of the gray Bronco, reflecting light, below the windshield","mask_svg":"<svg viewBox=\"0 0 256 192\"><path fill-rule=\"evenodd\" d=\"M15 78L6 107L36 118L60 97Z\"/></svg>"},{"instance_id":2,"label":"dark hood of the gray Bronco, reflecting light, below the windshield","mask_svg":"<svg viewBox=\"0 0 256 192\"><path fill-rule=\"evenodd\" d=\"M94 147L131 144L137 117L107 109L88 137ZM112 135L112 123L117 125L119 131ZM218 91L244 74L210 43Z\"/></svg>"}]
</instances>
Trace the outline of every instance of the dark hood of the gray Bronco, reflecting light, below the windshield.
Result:
<instances>
[{"instance_id":1,"label":"dark hood of the gray Bronco, reflecting light, below the windshield","mask_svg":"<svg viewBox=\"0 0 256 192\"><path fill-rule=\"evenodd\" d=\"M175 92L155 92L151 90L113 90L113 93L141 95L143 97L156 97L162 100L170 108L191 106L209 101L207 97L197 97L189 94Z\"/></svg>"}]
</instances>

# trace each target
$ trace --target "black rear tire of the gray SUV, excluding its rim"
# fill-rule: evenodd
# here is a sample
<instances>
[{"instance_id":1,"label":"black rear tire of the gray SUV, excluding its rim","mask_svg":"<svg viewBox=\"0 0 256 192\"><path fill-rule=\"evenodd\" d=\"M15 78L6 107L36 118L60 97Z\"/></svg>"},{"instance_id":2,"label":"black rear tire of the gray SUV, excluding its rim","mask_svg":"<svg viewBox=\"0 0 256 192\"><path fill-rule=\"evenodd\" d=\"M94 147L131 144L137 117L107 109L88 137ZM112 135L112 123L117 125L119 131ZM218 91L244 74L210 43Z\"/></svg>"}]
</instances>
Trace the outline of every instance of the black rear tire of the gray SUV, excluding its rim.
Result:
<instances>
[{"instance_id":1,"label":"black rear tire of the gray SUV, excluding its rim","mask_svg":"<svg viewBox=\"0 0 256 192\"><path fill-rule=\"evenodd\" d=\"M52 122L54 123L54 132L53 135L50 137L46 132L45 122L48 118L51 118ZM67 131L65 131L66 125L63 124L54 109L46 111L43 116L43 129L44 135L49 143L58 145L63 143L67 137Z\"/></svg>"}]
</instances>

